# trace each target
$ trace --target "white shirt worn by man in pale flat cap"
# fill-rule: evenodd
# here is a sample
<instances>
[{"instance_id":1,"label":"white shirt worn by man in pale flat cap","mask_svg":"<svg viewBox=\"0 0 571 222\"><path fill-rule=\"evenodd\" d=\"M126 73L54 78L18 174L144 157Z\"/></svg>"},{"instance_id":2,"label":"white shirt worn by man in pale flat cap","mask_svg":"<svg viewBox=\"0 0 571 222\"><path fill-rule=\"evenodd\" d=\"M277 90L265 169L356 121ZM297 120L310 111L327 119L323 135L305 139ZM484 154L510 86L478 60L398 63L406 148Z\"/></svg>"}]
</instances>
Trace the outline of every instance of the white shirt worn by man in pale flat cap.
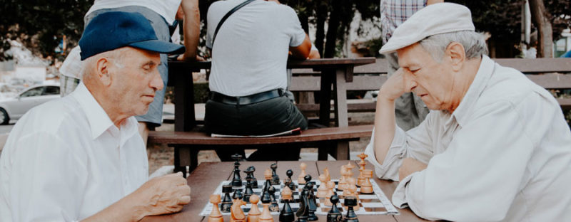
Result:
<instances>
[{"instance_id":1,"label":"white shirt worn by man in pale flat cap","mask_svg":"<svg viewBox=\"0 0 571 222\"><path fill-rule=\"evenodd\" d=\"M437 73L435 73L437 74ZM374 137L374 132L373 132ZM555 98L522 73L484 56L452 113L430 112L418 127L398 128L382 179L398 180L405 157L428 164L393 194L398 207L449 221L569 221L571 131Z\"/></svg>"}]
</instances>

